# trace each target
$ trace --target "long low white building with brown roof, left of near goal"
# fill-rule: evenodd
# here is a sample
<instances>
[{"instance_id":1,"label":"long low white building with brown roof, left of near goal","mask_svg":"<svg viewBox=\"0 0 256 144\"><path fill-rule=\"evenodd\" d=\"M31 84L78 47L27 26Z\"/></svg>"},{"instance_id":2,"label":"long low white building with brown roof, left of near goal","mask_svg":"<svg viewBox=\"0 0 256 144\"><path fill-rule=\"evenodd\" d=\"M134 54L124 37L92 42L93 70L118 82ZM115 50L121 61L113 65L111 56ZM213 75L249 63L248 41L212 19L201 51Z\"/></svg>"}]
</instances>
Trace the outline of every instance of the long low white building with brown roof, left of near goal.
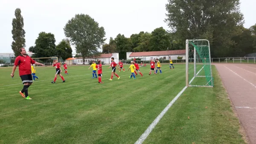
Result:
<instances>
[{"instance_id":1,"label":"long low white building with brown roof, left of near goal","mask_svg":"<svg viewBox=\"0 0 256 144\"><path fill-rule=\"evenodd\" d=\"M151 60L154 58L163 58L163 60L177 60L177 57L186 59L186 50L154 51L154 52L126 52L126 58L141 58L141 60Z\"/></svg>"}]
</instances>

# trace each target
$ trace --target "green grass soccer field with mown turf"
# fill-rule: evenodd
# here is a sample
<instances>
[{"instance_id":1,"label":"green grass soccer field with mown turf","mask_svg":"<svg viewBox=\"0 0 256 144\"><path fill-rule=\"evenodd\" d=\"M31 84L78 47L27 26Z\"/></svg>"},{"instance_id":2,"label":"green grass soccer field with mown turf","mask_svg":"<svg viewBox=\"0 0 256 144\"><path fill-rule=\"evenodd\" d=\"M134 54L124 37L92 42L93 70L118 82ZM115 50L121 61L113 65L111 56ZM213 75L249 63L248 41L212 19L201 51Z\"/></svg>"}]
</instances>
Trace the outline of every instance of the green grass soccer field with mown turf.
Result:
<instances>
[{"instance_id":1,"label":"green grass soccer field with mown turf","mask_svg":"<svg viewBox=\"0 0 256 144\"><path fill-rule=\"evenodd\" d=\"M162 66L163 74L128 78L131 72L108 81L111 68L103 65L102 81L92 78L89 66L69 66L69 75L55 68L36 67L38 81L25 100L18 71L0 68L0 143L8 144L134 144L154 119L185 86L185 65ZM128 69L125 65L125 70ZM192 68L192 65L190 65ZM244 144L239 121L215 66L213 88L189 87L175 101L143 144Z\"/></svg>"}]
</instances>

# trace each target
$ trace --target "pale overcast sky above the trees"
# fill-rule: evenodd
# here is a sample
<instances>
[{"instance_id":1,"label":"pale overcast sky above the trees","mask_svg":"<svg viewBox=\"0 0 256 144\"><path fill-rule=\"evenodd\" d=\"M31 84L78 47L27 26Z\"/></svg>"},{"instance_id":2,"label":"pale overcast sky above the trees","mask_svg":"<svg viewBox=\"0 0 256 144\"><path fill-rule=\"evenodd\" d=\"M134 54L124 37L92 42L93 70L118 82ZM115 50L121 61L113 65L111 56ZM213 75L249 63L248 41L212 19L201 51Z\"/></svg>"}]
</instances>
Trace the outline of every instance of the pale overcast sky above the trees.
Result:
<instances>
[{"instance_id":1,"label":"pale overcast sky above the trees","mask_svg":"<svg viewBox=\"0 0 256 144\"><path fill-rule=\"evenodd\" d=\"M256 0L240 0L244 27L256 23ZM35 45L39 32L55 35L56 45L65 38L63 28L75 14L89 14L105 28L106 42L119 33L130 37L140 31L168 29L165 4L168 0L0 0L0 52L12 52L12 18L21 9L26 32L26 50ZM73 53L76 53L73 48Z\"/></svg>"}]
</instances>

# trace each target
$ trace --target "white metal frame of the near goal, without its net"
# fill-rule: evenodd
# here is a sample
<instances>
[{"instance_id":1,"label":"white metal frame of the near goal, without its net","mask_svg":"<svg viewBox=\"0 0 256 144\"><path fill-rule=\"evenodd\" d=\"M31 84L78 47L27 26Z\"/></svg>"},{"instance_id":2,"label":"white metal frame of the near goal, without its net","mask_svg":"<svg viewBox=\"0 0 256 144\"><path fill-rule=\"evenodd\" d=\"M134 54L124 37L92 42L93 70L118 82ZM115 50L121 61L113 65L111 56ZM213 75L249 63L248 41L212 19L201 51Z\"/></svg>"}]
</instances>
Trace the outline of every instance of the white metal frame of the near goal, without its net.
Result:
<instances>
[{"instance_id":1,"label":"white metal frame of the near goal, without its net","mask_svg":"<svg viewBox=\"0 0 256 144\"><path fill-rule=\"evenodd\" d=\"M210 73L211 73L211 80L209 82L211 82L211 86L207 86L207 83L205 86L203 85L191 85L192 81L196 78L196 77L206 77L206 76L201 76L198 75L199 72L204 68L204 66L198 71L198 73L196 73L196 49L194 47L194 76L191 79L191 81L189 81L189 41L207 41L208 43L208 49L209 49L209 65L210 65ZM205 65L205 64L204 64ZM205 39L199 39L199 40L186 40L186 86L187 87L213 87L213 80L212 80L212 63L211 63L211 53L210 53L210 43L209 40L205 40Z\"/></svg>"}]
</instances>

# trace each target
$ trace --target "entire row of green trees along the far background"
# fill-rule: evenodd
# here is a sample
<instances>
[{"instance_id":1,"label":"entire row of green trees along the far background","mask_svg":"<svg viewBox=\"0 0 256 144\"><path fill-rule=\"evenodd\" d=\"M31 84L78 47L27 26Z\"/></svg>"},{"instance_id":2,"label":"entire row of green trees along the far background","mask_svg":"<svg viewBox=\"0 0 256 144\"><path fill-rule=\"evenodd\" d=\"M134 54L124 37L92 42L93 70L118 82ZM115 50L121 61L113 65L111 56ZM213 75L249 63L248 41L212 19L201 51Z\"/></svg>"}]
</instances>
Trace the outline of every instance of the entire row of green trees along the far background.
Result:
<instances>
[{"instance_id":1,"label":"entire row of green trees along the far background","mask_svg":"<svg viewBox=\"0 0 256 144\"><path fill-rule=\"evenodd\" d=\"M83 58L99 55L99 49L102 49L102 53L118 52L120 59L126 59L126 52L185 49L186 39L207 39L212 58L242 57L256 52L256 25L250 29L243 27L239 5L239 0L169 0L165 19L169 31L160 27L130 37L118 34L115 38L111 37L109 43L104 43L105 29L99 23L87 14L76 14L64 27L67 40L55 46L54 35L41 32L30 50L35 52L36 57L56 55L65 58L67 53L72 52L67 51L72 44ZM15 11L15 17L12 31L14 51L25 46L20 9Z\"/></svg>"}]
</instances>

